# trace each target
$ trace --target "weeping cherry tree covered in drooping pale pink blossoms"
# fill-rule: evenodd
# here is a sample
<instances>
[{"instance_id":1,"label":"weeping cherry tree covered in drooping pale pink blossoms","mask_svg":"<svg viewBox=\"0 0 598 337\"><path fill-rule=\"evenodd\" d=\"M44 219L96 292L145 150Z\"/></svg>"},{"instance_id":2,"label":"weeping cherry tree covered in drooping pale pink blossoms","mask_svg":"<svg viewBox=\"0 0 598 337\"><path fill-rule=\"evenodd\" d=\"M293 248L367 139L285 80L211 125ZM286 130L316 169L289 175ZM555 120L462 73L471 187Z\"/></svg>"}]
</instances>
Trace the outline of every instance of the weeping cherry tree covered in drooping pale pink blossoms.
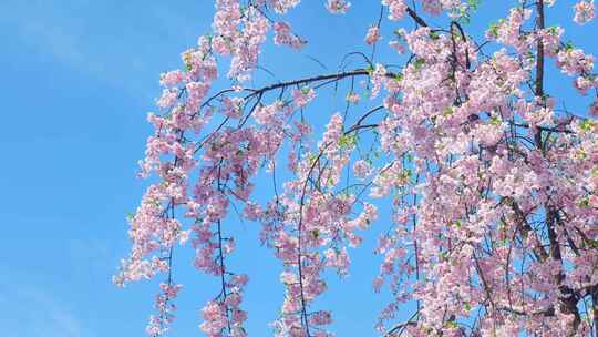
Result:
<instances>
[{"instance_id":1,"label":"weeping cherry tree covered in drooping pale pink blossoms","mask_svg":"<svg viewBox=\"0 0 598 337\"><path fill-rule=\"evenodd\" d=\"M213 31L161 75L140 173L154 181L114 276L121 286L164 279L147 334L165 334L175 317L176 247L220 283L199 329L247 336L249 277L227 266L236 235L227 218L238 210L283 266L274 334L333 336L333 313L315 304L324 272L348 273L349 248L375 231L377 205L386 204L372 279L392 295L381 336L598 336L598 75L594 57L546 22L556 1L512 1L476 39L466 23L478 1L382 0L362 32L372 53L343 58L359 65L254 86L269 39L307 43L283 21L300 0L216 0ZM594 0L558 1L570 2L563 20L595 17ZM328 0L322 14L351 9ZM381 40L382 24L391 39ZM408 61L385 63L377 48ZM553 64L587 109L569 111L545 90ZM344 90L346 109L315 112L330 86ZM328 121L322 134L315 114ZM279 182L281 171L292 177ZM272 184L254 186L260 172ZM271 188L271 201L258 203L256 188ZM396 315L404 307L411 316Z\"/></svg>"}]
</instances>

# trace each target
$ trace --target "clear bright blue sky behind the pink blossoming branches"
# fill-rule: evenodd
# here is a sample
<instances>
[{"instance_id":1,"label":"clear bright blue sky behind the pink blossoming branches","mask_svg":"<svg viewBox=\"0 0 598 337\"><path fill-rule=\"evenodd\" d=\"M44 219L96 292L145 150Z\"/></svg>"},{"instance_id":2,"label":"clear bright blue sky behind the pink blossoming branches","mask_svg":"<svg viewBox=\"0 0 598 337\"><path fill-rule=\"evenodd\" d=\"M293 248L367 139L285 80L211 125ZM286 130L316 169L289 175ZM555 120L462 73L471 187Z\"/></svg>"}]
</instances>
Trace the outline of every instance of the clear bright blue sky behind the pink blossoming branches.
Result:
<instances>
[{"instance_id":1,"label":"clear bright blue sky behind the pink blossoming branches","mask_svg":"<svg viewBox=\"0 0 598 337\"><path fill-rule=\"evenodd\" d=\"M322 1L308 1L288 18L309 40L306 50L295 54L267 48L262 55L262 63L280 79L322 72L310 55L330 72L355 45L368 51L362 39L377 20L378 1L353 1L346 18L328 16ZM505 2L483 1L482 17L471 27L481 32L488 16L506 13ZM569 21L571 1L558 2L548 19L566 16ZM3 336L143 334L156 283L123 290L111 284L111 276L128 251L125 215L135 210L146 184L135 177L151 132L145 113L154 110L158 74L178 67L178 54L209 30L212 14L212 1L205 0L0 2ZM596 22L585 29L569 22L565 27L576 44L598 52L589 33L598 31ZM261 73L258 79L268 78ZM548 90L576 99L563 84L568 81L553 73ZM567 106L587 104L585 99ZM323 121L327 112L317 115ZM269 191L258 194L266 198ZM248 330L266 336L282 300L280 266L257 244L257 225L233 225L239 246L246 245L231 264L250 276ZM385 228L388 219L374 226ZM334 309L339 336L374 335L374 319L385 303L371 292L379 263L371 258L374 237L368 235L364 246L353 252L350 277L332 277L330 293L319 303ZM171 336L198 336L198 309L217 292L215 279L190 268L188 251L179 249L175 261L185 288ZM250 263L243 259L247 257Z\"/></svg>"}]
</instances>

